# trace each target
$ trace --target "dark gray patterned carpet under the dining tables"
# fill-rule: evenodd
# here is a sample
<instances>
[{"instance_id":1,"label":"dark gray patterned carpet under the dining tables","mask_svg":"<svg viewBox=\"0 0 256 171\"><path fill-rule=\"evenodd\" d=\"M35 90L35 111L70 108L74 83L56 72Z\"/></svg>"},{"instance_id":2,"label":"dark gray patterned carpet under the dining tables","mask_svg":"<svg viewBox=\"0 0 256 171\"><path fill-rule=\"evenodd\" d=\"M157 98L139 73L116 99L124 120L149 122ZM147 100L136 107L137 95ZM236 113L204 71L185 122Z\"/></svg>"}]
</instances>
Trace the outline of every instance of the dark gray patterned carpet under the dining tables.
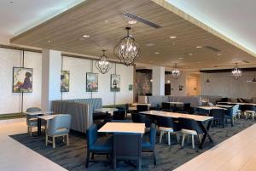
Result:
<instances>
[{"instance_id":1,"label":"dark gray patterned carpet under the dining tables","mask_svg":"<svg viewBox=\"0 0 256 171\"><path fill-rule=\"evenodd\" d=\"M210 132L215 145L217 145L218 143L230 138L232 135L251 126L253 123L254 122L252 120L241 119L238 120L238 123L236 123L233 128L230 126L227 128L212 128ZM90 167L85 169L86 140L83 135L70 134L70 145L63 145L62 141L58 140L55 149L53 149L51 145L44 145L44 136L30 137L29 134L15 134L10 137L19 141L21 144L26 145L33 151L38 152L42 156L49 158L49 160L61 165L63 168L67 168L67 170L111 170L108 162L90 162ZM159 140L159 137L157 137L157 140ZM181 146L176 143L174 136L172 137L173 145L168 146L165 140L166 139L164 139L161 144L157 143L156 145L156 166L154 166L150 154L143 154L143 170L170 171L212 147L211 144L206 144L206 148L204 150L198 151L193 150L191 144L186 144L182 149ZM198 143L198 140L196 142ZM208 142L208 140L206 142ZM106 157L101 156L95 156L95 158L106 160ZM123 162L119 162L118 170L130 171L136 170L136 168L133 168Z\"/></svg>"}]
</instances>

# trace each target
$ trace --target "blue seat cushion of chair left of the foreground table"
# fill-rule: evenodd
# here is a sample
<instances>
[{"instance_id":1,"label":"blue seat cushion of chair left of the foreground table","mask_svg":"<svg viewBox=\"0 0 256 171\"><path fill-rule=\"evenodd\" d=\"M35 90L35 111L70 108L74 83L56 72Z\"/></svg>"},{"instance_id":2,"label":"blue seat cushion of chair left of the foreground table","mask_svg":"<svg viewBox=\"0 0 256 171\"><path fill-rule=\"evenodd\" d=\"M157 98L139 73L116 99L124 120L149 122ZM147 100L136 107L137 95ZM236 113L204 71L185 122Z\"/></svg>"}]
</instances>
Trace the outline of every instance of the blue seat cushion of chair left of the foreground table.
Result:
<instances>
[{"instance_id":1,"label":"blue seat cushion of chair left of the foreground table","mask_svg":"<svg viewBox=\"0 0 256 171\"><path fill-rule=\"evenodd\" d=\"M90 146L90 151L112 151L113 136L101 137Z\"/></svg>"}]
</instances>

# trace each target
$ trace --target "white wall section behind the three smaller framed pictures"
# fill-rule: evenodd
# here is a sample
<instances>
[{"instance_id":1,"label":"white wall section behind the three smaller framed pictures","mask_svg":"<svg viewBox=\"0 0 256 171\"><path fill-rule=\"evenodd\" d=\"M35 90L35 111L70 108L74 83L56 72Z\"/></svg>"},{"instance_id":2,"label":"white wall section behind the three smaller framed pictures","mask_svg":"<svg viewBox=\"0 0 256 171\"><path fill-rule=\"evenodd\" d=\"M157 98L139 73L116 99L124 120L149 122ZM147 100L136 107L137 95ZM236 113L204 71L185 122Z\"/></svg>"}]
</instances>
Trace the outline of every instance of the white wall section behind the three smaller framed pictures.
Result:
<instances>
[{"instance_id":1,"label":"white wall section behind the three smaller framed pictures","mask_svg":"<svg viewBox=\"0 0 256 171\"><path fill-rule=\"evenodd\" d=\"M121 77L120 92L110 92L110 76L115 72L115 65L106 74L100 73L95 66L95 60L91 65L91 60L79 58L63 57L63 70L70 71L69 92L62 94L63 100L102 98L103 105L132 103L133 91L128 90L129 84L133 85L133 67L116 64L116 74ZM92 66L92 67L91 67ZM86 72L98 73L98 92L86 92Z\"/></svg>"}]
</instances>

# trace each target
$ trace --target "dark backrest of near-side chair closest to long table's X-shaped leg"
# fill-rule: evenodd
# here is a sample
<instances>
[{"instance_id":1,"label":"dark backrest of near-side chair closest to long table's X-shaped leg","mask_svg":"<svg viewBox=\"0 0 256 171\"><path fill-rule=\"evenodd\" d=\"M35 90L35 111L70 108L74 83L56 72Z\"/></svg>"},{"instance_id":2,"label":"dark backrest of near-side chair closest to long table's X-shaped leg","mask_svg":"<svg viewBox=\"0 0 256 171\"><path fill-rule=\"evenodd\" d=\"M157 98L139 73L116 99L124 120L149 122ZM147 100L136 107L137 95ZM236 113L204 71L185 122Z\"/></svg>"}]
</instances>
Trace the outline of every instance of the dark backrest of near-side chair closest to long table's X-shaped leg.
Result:
<instances>
[{"instance_id":1,"label":"dark backrest of near-side chair closest to long table's X-shaped leg","mask_svg":"<svg viewBox=\"0 0 256 171\"><path fill-rule=\"evenodd\" d=\"M180 128L195 130L197 134L202 134L203 131L197 121L190 118L178 117L178 124Z\"/></svg>"}]
</instances>

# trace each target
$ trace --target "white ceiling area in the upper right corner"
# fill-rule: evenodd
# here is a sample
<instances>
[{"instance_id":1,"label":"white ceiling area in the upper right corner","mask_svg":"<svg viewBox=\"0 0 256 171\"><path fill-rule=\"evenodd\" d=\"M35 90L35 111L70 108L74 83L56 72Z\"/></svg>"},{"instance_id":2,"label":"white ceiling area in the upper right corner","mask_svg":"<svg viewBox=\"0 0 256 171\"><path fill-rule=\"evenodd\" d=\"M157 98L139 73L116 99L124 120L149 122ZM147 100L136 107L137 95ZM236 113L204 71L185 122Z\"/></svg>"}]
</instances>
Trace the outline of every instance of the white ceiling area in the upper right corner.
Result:
<instances>
[{"instance_id":1,"label":"white ceiling area in the upper right corner","mask_svg":"<svg viewBox=\"0 0 256 171\"><path fill-rule=\"evenodd\" d=\"M166 0L256 53L255 0Z\"/></svg>"}]
</instances>

